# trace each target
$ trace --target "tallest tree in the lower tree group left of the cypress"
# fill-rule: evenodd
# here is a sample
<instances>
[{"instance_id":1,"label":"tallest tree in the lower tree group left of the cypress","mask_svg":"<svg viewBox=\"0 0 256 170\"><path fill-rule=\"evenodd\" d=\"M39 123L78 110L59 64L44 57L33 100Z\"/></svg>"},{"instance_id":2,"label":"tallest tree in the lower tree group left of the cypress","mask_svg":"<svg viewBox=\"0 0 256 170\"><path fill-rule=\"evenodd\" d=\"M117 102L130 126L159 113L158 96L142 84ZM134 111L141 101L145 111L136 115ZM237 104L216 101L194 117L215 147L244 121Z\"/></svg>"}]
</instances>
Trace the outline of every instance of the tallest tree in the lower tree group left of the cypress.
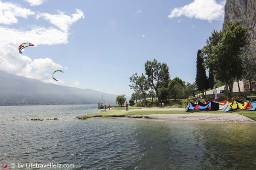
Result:
<instances>
[{"instance_id":1,"label":"tallest tree in the lower tree group left of the cypress","mask_svg":"<svg viewBox=\"0 0 256 170\"><path fill-rule=\"evenodd\" d=\"M145 63L145 74L148 76L150 86L155 90L157 98L159 99L158 88L161 85L168 86L169 68L166 63L153 61L147 61Z\"/></svg>"}]
</instances>

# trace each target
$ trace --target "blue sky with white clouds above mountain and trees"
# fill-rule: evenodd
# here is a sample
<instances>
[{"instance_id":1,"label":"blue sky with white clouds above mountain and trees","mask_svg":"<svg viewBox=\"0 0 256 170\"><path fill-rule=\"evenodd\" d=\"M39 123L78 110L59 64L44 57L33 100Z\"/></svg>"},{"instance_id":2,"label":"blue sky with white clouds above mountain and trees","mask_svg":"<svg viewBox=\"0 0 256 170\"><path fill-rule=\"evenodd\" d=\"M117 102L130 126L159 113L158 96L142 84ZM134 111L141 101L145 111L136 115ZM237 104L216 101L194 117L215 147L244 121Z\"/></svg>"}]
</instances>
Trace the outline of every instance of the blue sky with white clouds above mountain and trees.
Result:
<instances>
[{"instance_id":1,"label":"blue sky with white clouds above mountain and trees","mask_svg":"<svg viewBox=\"0 0 256 170\"><path fill-rule=\"evenodd\" d=\"M194 82L196 54L224 22L223 0L0 0L0 70L131 96L147 60ZM31 42L35 46L18 46ZM62 70L64 73L52 72Z\"/></svg>"}]
</instances>

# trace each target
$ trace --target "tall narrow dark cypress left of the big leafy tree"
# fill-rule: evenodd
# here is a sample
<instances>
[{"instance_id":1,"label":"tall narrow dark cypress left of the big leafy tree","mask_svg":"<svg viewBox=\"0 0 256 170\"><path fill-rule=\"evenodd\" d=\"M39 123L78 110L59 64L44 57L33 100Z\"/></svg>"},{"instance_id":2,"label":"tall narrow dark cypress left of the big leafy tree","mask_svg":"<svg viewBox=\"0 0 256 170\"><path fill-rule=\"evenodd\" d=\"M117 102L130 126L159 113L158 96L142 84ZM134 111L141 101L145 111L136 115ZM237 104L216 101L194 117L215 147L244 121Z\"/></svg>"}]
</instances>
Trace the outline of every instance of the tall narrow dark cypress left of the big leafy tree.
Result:
<instances>
[{"instance_id":1,"label":"tall narrow dark cypress left of the big leafy tree","mask_svg":"<svg viewBox=\"0 0 256 170\"><path fill-rule=\"evenodd\" d=\"M202 51L198 50L197 59L196 59L196 78L195 83L198 86L198 91L201 91L204 98L204 90L208 88L207 76L204 68L204 59Z\"/></svg>"}]
</instances>

